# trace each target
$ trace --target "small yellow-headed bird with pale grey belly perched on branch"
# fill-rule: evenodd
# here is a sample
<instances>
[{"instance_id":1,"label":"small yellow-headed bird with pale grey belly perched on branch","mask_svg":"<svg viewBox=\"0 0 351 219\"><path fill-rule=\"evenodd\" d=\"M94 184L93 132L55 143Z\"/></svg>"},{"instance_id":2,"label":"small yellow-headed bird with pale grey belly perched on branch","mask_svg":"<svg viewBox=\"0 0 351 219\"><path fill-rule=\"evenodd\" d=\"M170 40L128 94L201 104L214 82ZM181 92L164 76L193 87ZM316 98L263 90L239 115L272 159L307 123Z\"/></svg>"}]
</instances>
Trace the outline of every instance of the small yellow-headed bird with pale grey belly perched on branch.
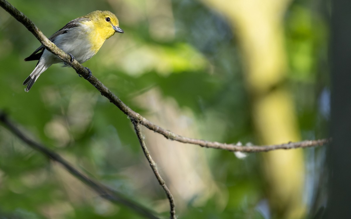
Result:
<instances>
[{"instance_id":1,"label":"small yellow-headed bird with pale grey belly perched on branch","mask_svg":"<svg viewBox=\"0 0 351 219\"><path fill-rule=\"evenodd\" d=\"M119 28L119 22L112 12L94 11L85 16L71 20L59 31L50 36L49 40L71 56L71 63L77 60L83 63L92 58L100 49L105 40L115 32L124 33ZM43 45L36 49L25 61L39 60L33 72L23 82L28 92L43 73L52 64L63 62L56 55L47 51ZM62 67L69 66L64 62ZM87 68L90 72L90 69Z\"/></svg>"}]
</instances>

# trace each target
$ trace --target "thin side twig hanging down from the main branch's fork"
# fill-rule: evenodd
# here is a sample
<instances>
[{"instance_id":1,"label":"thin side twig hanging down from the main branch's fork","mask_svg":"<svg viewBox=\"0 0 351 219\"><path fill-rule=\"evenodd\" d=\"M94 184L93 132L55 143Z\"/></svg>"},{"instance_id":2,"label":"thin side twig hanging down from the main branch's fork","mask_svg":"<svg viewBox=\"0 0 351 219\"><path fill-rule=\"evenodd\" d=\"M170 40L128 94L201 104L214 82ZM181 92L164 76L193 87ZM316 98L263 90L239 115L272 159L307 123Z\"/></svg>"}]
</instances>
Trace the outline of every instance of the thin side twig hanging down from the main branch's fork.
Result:
<instances>
[{"instance_id":1,"label":"thin side twig hanging down from the main branch's fork","mask_svg":"<svg viewBox=\"0 0 351 219\"><path fill-rule=\"evenodd\" d=\"M139 143L140 143L141 148L143 149L145 157L146 157L147 161L149 162L150 167L151 167L153 173L155 174L155 177L157 178L157 181L159 182L159 184L162 186L163 190L165 191L168 201L170 202L171 219L176 219L176 205L174 204L173 195L171 194L170 190L168 189L168 187L165 183L165 180L163 180L160 173L158 172L157 165L156 165L155 161L152 159L150 151L146 147L146 143L145 143L143 134L141 133L141 125L139 124L139 122L137 122L135 120L131 120L131 121L134 125L135 133L137 133Z\"/></svg>"}]
</instances>

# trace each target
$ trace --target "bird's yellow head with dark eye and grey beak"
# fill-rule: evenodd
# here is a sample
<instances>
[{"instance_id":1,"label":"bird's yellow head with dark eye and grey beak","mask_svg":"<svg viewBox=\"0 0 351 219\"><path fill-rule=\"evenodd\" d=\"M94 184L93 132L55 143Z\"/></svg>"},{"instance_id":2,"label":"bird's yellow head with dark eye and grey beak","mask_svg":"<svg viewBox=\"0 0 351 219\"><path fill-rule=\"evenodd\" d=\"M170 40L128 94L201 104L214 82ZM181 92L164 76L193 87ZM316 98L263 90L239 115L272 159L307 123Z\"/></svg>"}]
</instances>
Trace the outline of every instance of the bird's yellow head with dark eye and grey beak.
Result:
<instances>
[{"instance_id":1,"label":"bird's yellow head with dark eye and grey beak","mask_svg":"<svg viewBox=\"0 0 351 219\"><path fill-rule=\"evenodd\" d=\"M97 34L97 37L101 38L101 40L105 41L113 36L115 32L124 33L124 31L119 28L116 15L110 11L94 11L84 17L90 20L94 28L94 34Z\"/></svg>"}]
</instances>

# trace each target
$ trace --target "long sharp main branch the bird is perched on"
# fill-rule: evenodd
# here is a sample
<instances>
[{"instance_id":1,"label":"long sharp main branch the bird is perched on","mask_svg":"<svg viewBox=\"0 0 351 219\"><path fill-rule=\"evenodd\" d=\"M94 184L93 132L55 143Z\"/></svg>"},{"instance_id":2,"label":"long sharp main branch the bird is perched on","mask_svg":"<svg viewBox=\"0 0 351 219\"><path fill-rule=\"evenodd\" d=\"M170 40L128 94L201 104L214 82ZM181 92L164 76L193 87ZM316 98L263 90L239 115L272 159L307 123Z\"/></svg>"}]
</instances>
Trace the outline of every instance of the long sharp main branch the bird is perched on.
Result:
<instances>
[{"instance_id":1,"label":"long sharp main branch the bird is perched on","mask_svg":"<svg viewBox=\"0 0 351 219\"><path fill-rule=\"evenodd\" d=\"M5 0L0 0L0 6L3 7L7 12L9 12L15 19L21 22L40 42L42 45L45 46L50 52L57 55L60 59L69 63L71 57L66 54L64 51L59 49L55 44L49 41L44 34L42 34L39 29L33 24L31 20L29 20L22 12L18 11L14 8L11 4L9 4ZM72 68L84 78L87 78L88 71L79 64L76 60L74 60L71 64ZM265 145L265 146L239 146L235 144L225 144L220 142L212 142L212 141L205 141L200 139L193 139L187 138L171 131L165 130L164 128L153 124L151 121L147 120L146 118L142 117L139 113L134 112L131 108L124 104L114 93L112 93L104 84L101 83L94 75L87 79L98 91L106 97L110 102L112 102L115 106L117 106L123 113L125 113L130 119L137 121L140 125L147 127L148 129L157 132L163 135L167 139L199 145L201 147L206 148L214 148L214 149L221 149L227 151L240 151L240 152L267 152L272 150L278 149L293 149L293 148L305 148L305 147L316 147L328 144L331 142L331 139L319 139L319 140L306 140L300 142L289 142L286 144L280 145Z\"/></svg>"}]
</instances>

